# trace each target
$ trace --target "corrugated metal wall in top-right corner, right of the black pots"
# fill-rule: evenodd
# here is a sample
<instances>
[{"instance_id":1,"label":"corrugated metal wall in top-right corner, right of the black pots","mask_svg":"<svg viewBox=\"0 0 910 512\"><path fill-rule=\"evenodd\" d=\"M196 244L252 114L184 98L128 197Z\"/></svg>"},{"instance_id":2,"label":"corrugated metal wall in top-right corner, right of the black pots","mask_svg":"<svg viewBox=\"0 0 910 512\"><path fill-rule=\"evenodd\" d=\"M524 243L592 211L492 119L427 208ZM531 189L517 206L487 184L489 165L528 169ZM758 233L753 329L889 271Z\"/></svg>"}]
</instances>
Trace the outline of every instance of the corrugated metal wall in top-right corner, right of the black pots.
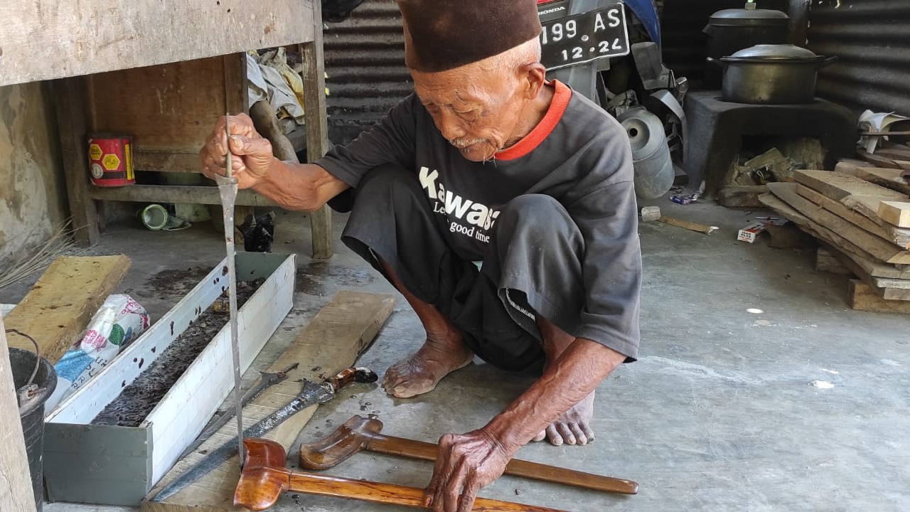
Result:
<instances>
[{"instance_id":1,"label":"corrugated metal wall in top-right corner, right of the black pots","mask_svg":"<svg viewBox=\"0 0 910 512\"><path fill-rule=\"evenodd\" d=\"M808 47L838 61L818 95L855 110L910 116L910 2L812 0Z\"/></svg>"}]
</instances>

